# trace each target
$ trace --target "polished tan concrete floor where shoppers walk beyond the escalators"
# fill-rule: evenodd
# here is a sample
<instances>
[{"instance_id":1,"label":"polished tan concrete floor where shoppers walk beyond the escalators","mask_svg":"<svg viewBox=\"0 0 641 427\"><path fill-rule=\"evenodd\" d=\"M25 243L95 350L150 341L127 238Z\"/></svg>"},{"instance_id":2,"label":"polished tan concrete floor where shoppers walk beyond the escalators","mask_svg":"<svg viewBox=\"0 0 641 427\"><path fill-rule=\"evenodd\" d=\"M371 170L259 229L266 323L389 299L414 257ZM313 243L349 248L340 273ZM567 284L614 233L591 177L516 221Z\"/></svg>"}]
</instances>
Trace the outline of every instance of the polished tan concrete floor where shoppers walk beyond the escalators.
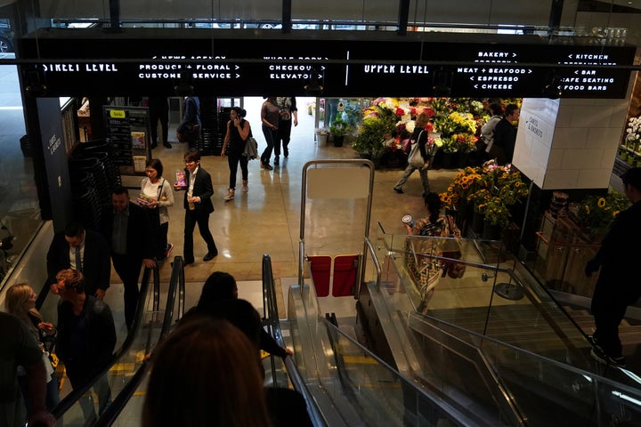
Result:
<instances>
[{"instance_id":1,"label":"polished tan concrete floor where shoppers walk beyond the escalators","mask_svg":"<svg viewBox=\"0 0 641 427\"><path fill-rule=\"evenodd\" d=\"M260 105L262 98L245 98L247 120L258 141L259 151L265 147L260 128ZM229 188L229 166L227 158L205 156L201 165L211 173L215 195L212 198L215 212L209 226L214 235L218 256L203 262L207 253L198 230L194 231L194 254L196 262L185 268L188 281L202 281L215 270L230 272L238 280L259 280L263 254L272 258L274 278L297 276L298 248L301 237L301 191L302 175L306 162L316 159L358 158L357 153L345 144L344 147L320 145L314 137L314 117L304 108L307 101L298 99L299 125L293 127L289 144L289 157L280 157L280 165L273 171L260 168L259 161L249 163L249 190L240 190L240 172L237 179L235 198L224 201ZM169 140L172 149L158 144L153 156L158 157L165 167L165 178L174 181L175 171L184 167L185 144L173 141L173 129ZM447 188L456 170L434 170L429 172L432 189ZM374 173L372 191L370 237L375 237L378 223L385 233L405 234L401 217L411 214L422 217L425 214L418 173L410 177L405 185L405 194L393 191L394 183L402 170L377 170ZM129 182L135 178L125 177ZM345 185L348 183L345 183ZM134 189L132 195L136 195ZM183 193L174 193L174 206L169 208L169 241L174 243L174 255L183 254ZM362 251L362 236L365 234L366 199L305 199L304 241L308 254L351 254ZM161 266L161 275L168 278L169 263ZM117 280L117 277L112 277Z\"/></svg>"}]
</instances>

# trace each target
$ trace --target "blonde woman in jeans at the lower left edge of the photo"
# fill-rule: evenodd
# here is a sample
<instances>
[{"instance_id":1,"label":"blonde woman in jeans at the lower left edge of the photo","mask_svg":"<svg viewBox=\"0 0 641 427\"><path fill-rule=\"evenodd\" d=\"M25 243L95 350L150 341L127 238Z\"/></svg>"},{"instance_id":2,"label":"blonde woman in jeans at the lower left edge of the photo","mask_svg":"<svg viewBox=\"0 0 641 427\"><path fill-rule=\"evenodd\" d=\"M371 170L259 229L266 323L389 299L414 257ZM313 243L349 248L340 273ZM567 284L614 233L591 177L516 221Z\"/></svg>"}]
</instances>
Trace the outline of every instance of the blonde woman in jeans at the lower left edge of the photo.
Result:
<instances>
[{"instance_id":1,"label":"blonde woman in jeans at the lower left edge of the photo","mask_svg":"<svg viewBox=\"0 0 641 427\"><path fill-rule=\"evenodd\" d=\"M7 290L4 306L9 313L20 318L20 320L28 326L29 331L34 335L43 350L43 360L47 372L45 403L47 409L51 410L60 402L58 395L58 377L55 375L52 362L49 359L49 351L53 349L56 329L53 327L53 324L45 322L40 312L36 309L36 297L37 294L31 286L28 286L26 283L19 283L11 286ZM28 414L31 414L32 402L28 398L26 373L21 367L18 370L18 376Z\"/></svg>"}]
</instances>

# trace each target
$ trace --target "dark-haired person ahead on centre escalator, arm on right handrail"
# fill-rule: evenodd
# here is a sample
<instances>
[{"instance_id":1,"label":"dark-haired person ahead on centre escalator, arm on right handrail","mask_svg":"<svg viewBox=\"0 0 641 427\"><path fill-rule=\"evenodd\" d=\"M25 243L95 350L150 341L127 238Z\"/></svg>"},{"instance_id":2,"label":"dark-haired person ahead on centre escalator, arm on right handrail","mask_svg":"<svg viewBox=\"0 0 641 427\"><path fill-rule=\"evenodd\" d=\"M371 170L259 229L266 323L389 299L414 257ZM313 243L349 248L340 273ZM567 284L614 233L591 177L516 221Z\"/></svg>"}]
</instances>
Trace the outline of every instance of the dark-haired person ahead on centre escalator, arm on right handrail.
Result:
<instances>
[{"instance_id":1,"label":"dark-haired person ahead on centre escalator, arm on right handrail","mask_svg":"<svg viewBox=\"0 0 641 427\"><path fill-rule=\"evenodd\" d=\"M184 314L183 318L197 312L214 313L221 307L221 301L224 302L236 299L238 299L238 286L236 284L236 279L233 278L231 274L224 271L214 271L209 275L203 285L198 305L191 308L191 310L188 310ZM260 330L260 350L267 351L268 353L280 358L294 354L292 350L280 347L278 342L276 342L272 335L268 334L263 327L261 327Z\"/></svg>"}]
</instances>

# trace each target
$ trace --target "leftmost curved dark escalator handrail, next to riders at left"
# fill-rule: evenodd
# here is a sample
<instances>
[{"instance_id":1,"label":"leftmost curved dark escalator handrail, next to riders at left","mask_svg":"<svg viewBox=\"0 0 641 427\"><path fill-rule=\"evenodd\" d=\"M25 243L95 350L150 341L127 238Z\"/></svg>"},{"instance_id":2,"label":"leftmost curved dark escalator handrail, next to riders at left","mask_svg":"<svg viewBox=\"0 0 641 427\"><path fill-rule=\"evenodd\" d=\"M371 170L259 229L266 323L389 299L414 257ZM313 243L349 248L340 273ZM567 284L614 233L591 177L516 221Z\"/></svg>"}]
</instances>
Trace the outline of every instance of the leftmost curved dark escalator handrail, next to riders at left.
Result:
<instances>
[{"instance_id":1,"label":"leftmost curved dark escalator handrail, next to riders at left","mask_svg":"<svg viewBox=\"0 0 641 427\"><path fill-rule=\"evenodd\" d=\"M125 341L122 343L120 348L116 350L111 356L110 363L106 367L102 367L100 372L96 375L93 375L93 377L84 386L71 391L67 396L65 396L64 399L61 399L60 403L56 407L53 408L52 414L56 419L60 419L61 416L63 416L70 407L73 407L76 404L77 400L80 399L87 391L89 391L89 389L93 387L93 384L100 380L102 376L106 375L110 371L111 367L116 364L118 359L120 359L130 350L131 346L134 343L134 337L136 335L135 332L138 331L142 322L142 311L144 310L146 295L149 290L149 282L152 270L156 270L156 272L153 273L154 289L156 289L157 286L160 286L159 283L156 283L156 281L159 280L158 264L156 264L151 269L149 267L145 267L142 273L140 292L141 296L136 307L134 322L132 323L131 330L129 331L129 334L127 334Z\"/></svg>"}]
</instances>

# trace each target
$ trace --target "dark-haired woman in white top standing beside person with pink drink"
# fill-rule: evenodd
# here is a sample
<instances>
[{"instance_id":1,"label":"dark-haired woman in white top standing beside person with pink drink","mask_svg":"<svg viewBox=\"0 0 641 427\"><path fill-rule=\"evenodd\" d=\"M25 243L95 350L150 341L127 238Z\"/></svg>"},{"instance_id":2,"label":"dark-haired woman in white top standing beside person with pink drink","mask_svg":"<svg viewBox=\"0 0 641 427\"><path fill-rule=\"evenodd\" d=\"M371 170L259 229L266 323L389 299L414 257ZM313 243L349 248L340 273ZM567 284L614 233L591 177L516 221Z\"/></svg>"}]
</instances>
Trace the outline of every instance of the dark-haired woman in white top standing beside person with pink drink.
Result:
<instances>
[{"instance_id":1,"label":"dark-haired woman in white top standing beside person with pink drink","mask_svg":"<svg viewBox=\"0 0 641 427\"><path fill-rule=\"evenodd\" d=\"M163 165L160 159L150 158L145 166L147 176L141 181L141 195L138 204L147 208L150 217L154 238L158 244L154 245L158 261L166 259L174 245L167 243L169 231L169 210L167 206L174 205L174 191L169 181L162 177Z\"/></svg>"}]
</instances>

